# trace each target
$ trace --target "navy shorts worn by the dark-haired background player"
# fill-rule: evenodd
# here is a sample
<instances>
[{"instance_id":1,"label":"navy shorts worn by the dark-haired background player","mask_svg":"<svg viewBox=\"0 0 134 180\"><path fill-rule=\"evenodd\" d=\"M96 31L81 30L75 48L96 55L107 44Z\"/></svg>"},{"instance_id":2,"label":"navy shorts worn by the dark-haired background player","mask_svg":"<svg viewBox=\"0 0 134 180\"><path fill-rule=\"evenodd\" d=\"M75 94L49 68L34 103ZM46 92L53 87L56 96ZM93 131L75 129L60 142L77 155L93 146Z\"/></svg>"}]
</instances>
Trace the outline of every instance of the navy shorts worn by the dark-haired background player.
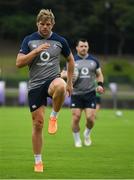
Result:
<instances>
[{"instance_id":1,"label":"navy shorts worn by the dark-haired background player","mask_svg":"<svg viewBox=\"0 0 134 180\"><path fill-rule=\"evenodd\" d=\"M81 95L71 95L71 108L96 109L96 92L91 91Z\"/></svg>"}]
</instances>

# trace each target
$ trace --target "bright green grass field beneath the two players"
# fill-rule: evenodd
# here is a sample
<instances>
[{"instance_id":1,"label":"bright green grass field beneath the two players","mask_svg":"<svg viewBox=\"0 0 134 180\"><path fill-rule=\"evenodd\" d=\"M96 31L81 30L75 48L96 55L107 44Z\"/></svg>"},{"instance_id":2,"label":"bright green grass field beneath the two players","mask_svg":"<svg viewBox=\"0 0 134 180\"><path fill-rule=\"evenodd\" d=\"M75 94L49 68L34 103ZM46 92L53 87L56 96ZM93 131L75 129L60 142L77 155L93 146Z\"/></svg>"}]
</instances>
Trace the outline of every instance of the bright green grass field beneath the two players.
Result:
<instances>
[{"instance_id":1,"label":"bright green grass field beneath the two players","mask_svg":"<svg viewBox=\"0 0 134 180\"><path fill-rule=\"evenodd\" d=\"M0 108L0 179L132 179L134 178L134 111L101 110L92 131L91 147L75 148L71 112L62 109L56 135L47 133L46 110L43 160L45 171L33 172L31 116L28 108ZM81 119L81 138L84 130Z\"/></svg>"}]
</instances>

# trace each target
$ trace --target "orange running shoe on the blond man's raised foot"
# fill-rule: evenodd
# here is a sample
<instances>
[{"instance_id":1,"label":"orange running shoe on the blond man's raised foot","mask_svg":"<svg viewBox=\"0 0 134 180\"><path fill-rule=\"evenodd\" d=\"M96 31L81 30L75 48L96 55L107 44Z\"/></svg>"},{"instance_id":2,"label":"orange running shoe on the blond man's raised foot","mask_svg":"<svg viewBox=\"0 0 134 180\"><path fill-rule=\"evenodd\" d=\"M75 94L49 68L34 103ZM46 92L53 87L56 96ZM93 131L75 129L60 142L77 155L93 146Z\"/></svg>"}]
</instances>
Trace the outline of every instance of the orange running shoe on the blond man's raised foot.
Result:
<instances>
[{"instance_id":1,"label":"orange running shoe on the blond man's raised foot","mask_svg":"<svg viewBox=\"0 0 134 180\"><path fill-rule=\"evenodd\" d=\"M56 117L50 117L48 125L48 133L55 134L57 132L57 119Z\"/></svg>"}]
</instances>

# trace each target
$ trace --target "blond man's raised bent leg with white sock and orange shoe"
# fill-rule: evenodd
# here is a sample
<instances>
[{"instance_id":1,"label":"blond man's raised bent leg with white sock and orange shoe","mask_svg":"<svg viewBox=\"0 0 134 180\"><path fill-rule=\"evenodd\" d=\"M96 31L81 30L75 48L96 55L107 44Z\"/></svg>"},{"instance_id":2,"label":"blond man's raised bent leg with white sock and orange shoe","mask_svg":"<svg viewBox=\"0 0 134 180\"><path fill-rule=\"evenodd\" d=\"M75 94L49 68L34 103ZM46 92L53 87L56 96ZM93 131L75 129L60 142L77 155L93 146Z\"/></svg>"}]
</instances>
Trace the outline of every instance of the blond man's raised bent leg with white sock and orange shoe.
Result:
<instances>
[{"instance_id":1,"label":"blond man's raised bent leg with white sock and orange shoe","mask_svg":"<svg viewBox=\"0 0 134 180\"><path fill-rule=\"evenodd\" d=\"M48 132L50 134L55 134L57 131L57 115L62 107L62 104L64 103L66 96L65 81L61 78L54 79L48 88L48 93L52 96L53 100L53 109L50 115Z\"/></svg>"}]
</instances>

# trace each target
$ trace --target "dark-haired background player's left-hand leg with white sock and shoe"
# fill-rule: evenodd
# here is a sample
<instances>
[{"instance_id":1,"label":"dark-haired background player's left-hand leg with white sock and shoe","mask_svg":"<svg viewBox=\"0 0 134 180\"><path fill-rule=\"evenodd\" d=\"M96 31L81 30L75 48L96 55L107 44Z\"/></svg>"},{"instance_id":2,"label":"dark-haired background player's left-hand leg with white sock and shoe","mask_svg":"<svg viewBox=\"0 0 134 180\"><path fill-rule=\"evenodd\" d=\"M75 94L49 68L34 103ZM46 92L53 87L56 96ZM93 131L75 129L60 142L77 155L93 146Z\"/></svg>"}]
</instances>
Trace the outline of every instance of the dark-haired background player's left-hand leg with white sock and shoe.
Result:
<instances>
[{"instance_id":1,"label":"dark-haired background player's left-hand leg with white sock and shoe","mask_svg":"<svg viewBox=\"0 0 134 180\"><path fill-rule=\"evenodd\" d=\"M82 147L81 139L80 139L80 118L81 118L82 110L78 108L72 108L72 132L75 147Z\"/></svg>"}]
</instances>

